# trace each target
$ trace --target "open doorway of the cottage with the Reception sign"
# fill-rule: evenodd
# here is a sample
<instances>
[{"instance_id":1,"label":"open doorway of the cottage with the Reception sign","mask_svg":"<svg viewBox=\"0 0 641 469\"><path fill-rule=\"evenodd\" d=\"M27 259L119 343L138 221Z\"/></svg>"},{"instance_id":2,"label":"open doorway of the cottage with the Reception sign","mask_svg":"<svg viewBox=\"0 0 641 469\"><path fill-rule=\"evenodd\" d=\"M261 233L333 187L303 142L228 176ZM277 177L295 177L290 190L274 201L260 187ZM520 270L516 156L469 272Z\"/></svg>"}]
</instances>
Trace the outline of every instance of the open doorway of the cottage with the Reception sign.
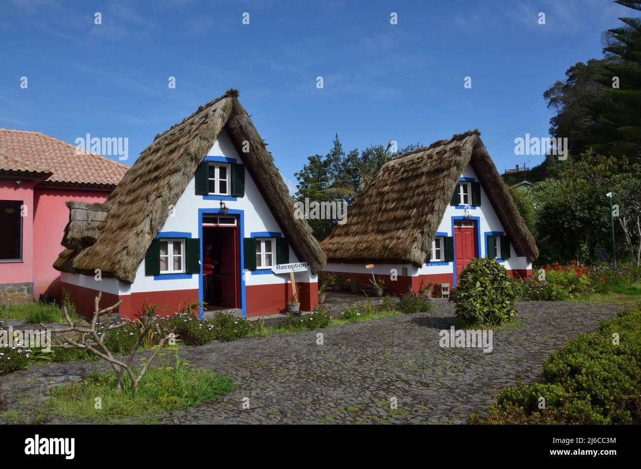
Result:
<instances>
[{"instance_id":1,"label":"open doorway of the cottage with the Reception sign","mask_svg":"<svg viewBox=\"0 0 641 469\"><path fill-rule=\"evenodd\" d=\"M238 227L233 216L203 215L205 311L238 308Z\"/></svg>"}]
</instances>

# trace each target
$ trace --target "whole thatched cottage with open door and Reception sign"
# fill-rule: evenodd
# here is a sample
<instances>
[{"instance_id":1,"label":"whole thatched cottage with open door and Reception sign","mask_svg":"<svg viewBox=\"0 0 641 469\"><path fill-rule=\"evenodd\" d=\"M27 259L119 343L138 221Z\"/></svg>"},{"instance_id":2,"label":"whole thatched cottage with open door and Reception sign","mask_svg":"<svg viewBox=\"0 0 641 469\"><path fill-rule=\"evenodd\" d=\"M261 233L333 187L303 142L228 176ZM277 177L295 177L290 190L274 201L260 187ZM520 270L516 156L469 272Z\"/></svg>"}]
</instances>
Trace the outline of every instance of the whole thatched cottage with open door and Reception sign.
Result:
<instances>
[{"instance_id":1,"label":"whole thatched cottage with open door and Reception sign","mask_svg":"<svg viewBox=\"0 0 641 469\"><path fill-rule=\"evenodd\" d=\"M229 90L154 139L102 204L69 204L54 267L83 313L94 297L173 313L181 302L243 316L281 313L296 272L301 309L317 302L326 258L274 165L238 92ZM201 310L202 314L202 310Z\"/></svg>"}]
</instances>

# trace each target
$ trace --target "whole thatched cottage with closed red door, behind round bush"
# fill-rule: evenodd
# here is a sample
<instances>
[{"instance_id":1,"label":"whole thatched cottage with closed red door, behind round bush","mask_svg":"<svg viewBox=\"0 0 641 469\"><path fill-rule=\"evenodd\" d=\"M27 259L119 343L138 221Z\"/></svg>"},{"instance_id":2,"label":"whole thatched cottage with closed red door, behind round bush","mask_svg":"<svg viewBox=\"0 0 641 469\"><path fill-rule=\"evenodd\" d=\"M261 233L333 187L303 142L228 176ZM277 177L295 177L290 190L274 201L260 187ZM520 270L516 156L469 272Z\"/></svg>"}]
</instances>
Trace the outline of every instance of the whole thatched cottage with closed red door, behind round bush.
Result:
<instances>
[{"instance_id":1,"label":"whole thatched cottage with closed red door, behind round bush","mask_svg":"<svg viewBox=\"0 0 641 469\"><path fill-rule=\"evenodd\" d=\"M390 293L455 286L474 257L496 258L513 276L531 274L537 245L479 135L468 131L388 161L347 222L321 243L326 271L366 283L365 265L373 263Z\"/></svg>"}]
</instances>

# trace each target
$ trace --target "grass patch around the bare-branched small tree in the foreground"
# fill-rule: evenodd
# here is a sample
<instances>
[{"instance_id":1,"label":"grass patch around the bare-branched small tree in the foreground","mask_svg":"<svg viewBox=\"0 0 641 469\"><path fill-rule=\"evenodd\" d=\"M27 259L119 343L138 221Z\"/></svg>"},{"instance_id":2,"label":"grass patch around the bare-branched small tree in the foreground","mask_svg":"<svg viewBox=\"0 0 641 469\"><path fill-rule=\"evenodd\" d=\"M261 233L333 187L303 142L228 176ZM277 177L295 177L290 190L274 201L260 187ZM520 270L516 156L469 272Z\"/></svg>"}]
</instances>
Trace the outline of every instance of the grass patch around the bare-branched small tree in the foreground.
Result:
<instances>
[{"instance_id":1,"label":"grass patch around the bare-branched small tree in the foreground","mask_svg":"<svg viewBox=\"0 0 641 469\"><path fill-rule=\"evenodd\" d=\"M115 373L99 372L81 383L53 388L46 412L62 418L88 418L103 423L141 418L151 423L161 413L187 410L236 389L231 377L188 368L178 358L174 366L150 368L140 382L138 393L131 392L129 379L125 380L122 391L115 390L115 383ZM96 398L101 400L101 409L96 409Z\"/></svg>"}]
</instances>

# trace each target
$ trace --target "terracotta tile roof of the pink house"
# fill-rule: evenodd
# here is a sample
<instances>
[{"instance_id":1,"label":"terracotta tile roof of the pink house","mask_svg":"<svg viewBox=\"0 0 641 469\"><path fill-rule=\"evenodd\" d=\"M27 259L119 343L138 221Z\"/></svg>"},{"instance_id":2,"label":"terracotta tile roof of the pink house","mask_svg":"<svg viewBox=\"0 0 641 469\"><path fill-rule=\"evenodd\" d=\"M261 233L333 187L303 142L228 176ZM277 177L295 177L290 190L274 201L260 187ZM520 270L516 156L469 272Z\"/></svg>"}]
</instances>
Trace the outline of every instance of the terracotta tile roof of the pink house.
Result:
<instances>
[{"instance_id":1,"label":"terracotta tile roof of the pink house","mask_svg":"<svg viewBox=\"0 0 641 469\"><path fill-rule=\"evenodd\" d=\"M51 173L43 183L115 186L128 169L40 132L0 129L0 170Z\"/></svg>"}]
</instances>

